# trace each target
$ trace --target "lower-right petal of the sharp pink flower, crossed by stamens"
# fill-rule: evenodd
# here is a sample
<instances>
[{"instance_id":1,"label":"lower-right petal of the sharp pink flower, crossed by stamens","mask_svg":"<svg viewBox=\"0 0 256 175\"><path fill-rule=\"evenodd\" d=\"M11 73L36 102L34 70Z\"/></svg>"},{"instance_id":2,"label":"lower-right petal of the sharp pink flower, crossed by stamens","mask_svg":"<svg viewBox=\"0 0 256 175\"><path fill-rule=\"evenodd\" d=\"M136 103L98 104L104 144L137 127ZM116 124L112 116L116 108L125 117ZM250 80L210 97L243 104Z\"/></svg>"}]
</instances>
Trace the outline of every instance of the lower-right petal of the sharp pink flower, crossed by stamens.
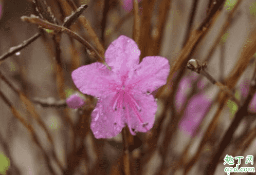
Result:
<instances>
[{"instance_id":1,"label":"lower-right petal of the sharp pink flower, crossed by stamens","mask_svg":"<svg viewBox=\"0 0 256 175\"><path fill-rule=\"evenodd\" d=\"M142 94L141 92L137 92L133 96L136 101L136 105L131 103L132 100L126 96L124 103L129 104L129 113L130 113L130 122L127 121L130 127L135 129L135 131L140 132L148 132L155 122L155 113L157 110L157 104L153 95ZM138 110L138 107L140 110ZM127 110L127 109L125 109ZM126 120L129 118L126 116Z\"/></svg>"}]
</instances>

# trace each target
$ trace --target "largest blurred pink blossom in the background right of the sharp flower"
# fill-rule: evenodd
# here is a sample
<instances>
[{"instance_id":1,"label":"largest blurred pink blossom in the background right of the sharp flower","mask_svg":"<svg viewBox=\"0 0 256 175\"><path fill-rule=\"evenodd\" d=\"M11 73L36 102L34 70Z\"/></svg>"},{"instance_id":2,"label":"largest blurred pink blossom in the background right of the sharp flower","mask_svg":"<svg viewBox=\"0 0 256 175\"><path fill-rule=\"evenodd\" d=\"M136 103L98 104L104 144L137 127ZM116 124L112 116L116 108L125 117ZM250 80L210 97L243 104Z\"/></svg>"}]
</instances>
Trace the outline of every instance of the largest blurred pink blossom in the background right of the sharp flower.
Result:
<instances>
[{"instance_id":1,"label":"largest blurred pink blossom in the background right of the sharp flower","mask_svg":"<svg viewBox=\"0 0 256 175\"><path fill-rule=\"evenodd\" d=\"M194 131L203 120L211 101L205 95L194 96L188 103L184 117L179 123L179 129L193 135Z\"/></svg>"}]
</instances>

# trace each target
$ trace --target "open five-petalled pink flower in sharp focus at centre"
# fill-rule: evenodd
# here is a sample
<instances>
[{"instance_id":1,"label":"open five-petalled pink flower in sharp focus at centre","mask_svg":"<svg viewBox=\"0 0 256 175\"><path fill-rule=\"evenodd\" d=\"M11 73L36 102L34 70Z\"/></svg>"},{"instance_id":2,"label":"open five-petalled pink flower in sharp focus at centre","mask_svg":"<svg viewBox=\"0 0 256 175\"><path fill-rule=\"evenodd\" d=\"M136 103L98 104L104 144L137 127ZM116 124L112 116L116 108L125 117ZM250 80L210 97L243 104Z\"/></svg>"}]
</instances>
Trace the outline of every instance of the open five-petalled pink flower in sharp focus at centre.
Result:
<instances>
[{"instance_id":1,"label":"open five-petalled pink flower in sharp focus at centre","mask_svg":"<svg viewBox=\"0 0 256 175\"><path fill-rule=\"evenodd\" d=\"M112 70L96 62L72 72L77 88L98 98L90 124L95 138L115 137L125 124L134 135L153 127L157 104L151 92L166 84L170 66L161 56L144 57L139 64L139 55L137 44L121 35L105 52Z\"/></svg>"}]
</instances>

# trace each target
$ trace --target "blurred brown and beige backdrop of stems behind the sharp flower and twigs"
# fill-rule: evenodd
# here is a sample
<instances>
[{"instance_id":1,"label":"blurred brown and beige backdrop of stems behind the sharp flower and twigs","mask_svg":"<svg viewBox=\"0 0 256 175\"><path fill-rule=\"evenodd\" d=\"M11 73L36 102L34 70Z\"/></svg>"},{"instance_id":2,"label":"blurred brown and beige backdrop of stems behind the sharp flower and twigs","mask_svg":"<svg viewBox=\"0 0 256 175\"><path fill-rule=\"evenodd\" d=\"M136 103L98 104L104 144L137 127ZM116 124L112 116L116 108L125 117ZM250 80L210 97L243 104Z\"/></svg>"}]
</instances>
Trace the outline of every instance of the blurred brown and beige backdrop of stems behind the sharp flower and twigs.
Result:
<instances>
[{"instance_id":1,"label":"blurred brown and beige backdrop of stems behind the sharp flower and twigs","mask_svg":"<svg viewBox=\"0 0 256 175\"><path fill-rule=\"evenodd\" d=\"M198 43L195 47L191 45L192 51L189 49L196 38L194 31L202 25L211 7L220 2L139 1L141 59L147 55L164 56L172 69L180 55L190 50L189 59L207 61L206 71L216 81L232 87L233 95L243 106L255 72L256 1L224 1L205 26L207 32L195 39ZM236 6L237 2L240 3ZM88 7L83 17L70 30L100 54L120 35L133 37L133 1L0 0L0 55L40 34L22 50L0 59L2 174L127 174L121 133L112 139L95 139L89 128L96 100L83 95L85 104L81 108L66 106L65 100L77 92L72 70L96 62L94 53L65 33L40 31L38 25L21 20L30 14L40 16L40 12L44 20L62 25L66 16L84 4ZM142 30L144 25L147 28ZM143 44L147 42L152 47ZM234 76L237 80L230 81L228 78L234 72L238 72ZM134 137L125 129L129 173L205 174L241 106L232 98L220 100L218 86L184 65L167 86L167 91L156 96L158 108L152 134L137 133ZM227 174L225 167L232 167L223 164L226 154L242 155L241 166L255 167L245 164L246 156L256 153L255 102L253 97L214 174Z\"/></svg>"}]
</instances>

